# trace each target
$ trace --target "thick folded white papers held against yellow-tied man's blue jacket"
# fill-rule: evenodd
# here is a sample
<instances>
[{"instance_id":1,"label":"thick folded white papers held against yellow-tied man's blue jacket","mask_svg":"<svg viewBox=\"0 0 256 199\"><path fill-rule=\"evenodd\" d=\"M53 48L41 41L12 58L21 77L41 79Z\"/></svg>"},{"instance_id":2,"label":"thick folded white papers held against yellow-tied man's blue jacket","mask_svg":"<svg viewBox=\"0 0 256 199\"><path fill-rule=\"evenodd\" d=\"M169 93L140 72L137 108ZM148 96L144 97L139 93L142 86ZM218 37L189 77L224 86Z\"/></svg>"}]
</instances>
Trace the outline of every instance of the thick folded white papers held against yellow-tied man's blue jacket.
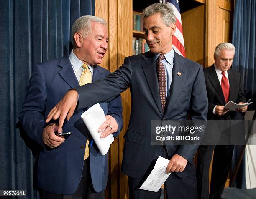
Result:
<instances>
[{"instance_id":1,"label":"thick folded white papers held against yellow-tied man's blue jacket","mask_svg":"<svg viewBox=\"0 0 256 199\"><path fill-rule=\"evenodd\" d=\"M98 132L98 128L106 121L104 111L100 107L100 104L93 105L81 115L81 118L92 135L92 139L95 141L100 153L102 155L107 154L110 144L114 141L114 137L110 134L105 138L100 138L101 132Z\"/></svg>"}]
</instances>

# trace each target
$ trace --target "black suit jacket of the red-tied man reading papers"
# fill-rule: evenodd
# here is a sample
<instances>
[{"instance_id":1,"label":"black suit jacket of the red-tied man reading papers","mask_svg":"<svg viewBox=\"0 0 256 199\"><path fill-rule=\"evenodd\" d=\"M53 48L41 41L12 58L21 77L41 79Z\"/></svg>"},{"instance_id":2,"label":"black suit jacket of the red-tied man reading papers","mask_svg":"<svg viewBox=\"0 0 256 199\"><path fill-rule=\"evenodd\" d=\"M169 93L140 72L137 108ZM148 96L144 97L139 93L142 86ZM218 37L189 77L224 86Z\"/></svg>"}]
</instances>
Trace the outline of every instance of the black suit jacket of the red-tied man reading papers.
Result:
<instances>
[{"instance_id":1,"label":"black suit jacket of the red-tied man reading papers","mask_svg":"<svg viewBox=\"0 0 256 199\"><path fill-rule=\"evenodd\" d=\"M216 105L224 106L226 102L214 65L205 68L204 73L209 101L208 120L217 120L218 122L208 121L203 144L217 144L219 142L218 144L223 145L225 143L230 144L230 141L233 143L242 143L244 139L244 129L242 128L242 123L238 125L240 126L238 128L237 125L224 121L243 120L243 115L238 111L228 111L223 116L218 116L212 113L213 108ZM246 99L244 97L243 82L240 73L230 68L228 70L228 80L230 85L228 101L231 100L235 103L245 102ZM221 136L222 139L220 140ZM238 142L236 142L236 140Z\"/></svg>"}]
</instances>

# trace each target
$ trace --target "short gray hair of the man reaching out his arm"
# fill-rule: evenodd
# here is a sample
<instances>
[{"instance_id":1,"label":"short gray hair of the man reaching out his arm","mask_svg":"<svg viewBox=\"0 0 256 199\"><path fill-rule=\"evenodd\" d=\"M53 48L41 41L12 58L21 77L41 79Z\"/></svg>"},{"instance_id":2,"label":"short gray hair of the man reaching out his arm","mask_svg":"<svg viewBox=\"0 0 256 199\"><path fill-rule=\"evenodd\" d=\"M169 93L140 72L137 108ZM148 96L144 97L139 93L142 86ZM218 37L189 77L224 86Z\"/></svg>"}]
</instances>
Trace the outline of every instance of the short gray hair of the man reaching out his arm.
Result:
<instances>
[{"instance_id":1,"label":"short gray hair of the man reaching out his arm","mask_svg":"<svg viewBox=\"0 0 256 199\"><path fill-rule=\"evenodd\" d=\"M165 3L154 3L149 5L142 11L141 17L144 19L156 13L161 14L163 22L166 26L170 26L172 23L176 22L174 11L172 10L171 6Z\"/></svg>"}]
</instances>

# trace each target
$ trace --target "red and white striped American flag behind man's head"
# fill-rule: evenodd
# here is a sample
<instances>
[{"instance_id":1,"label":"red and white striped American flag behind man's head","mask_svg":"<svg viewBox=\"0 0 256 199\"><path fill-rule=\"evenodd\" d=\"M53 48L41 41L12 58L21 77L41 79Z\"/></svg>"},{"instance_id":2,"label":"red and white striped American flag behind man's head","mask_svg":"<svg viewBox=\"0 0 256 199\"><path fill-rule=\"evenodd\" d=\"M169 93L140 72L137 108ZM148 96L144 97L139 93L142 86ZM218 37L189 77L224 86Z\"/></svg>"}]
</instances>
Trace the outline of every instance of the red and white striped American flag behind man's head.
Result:
<instances>
[{"instance_id":1,"label":"red and white striped American flag behind man's head","mask_svg":"<svg viewBox=\"0 0 256 199\"><path fill-rule=\"evenodd\" d=\"M181 15L179 10L179 1L165 0L164 2L172 7L176 17L176 23L175 23L176 32L172 36L172 47L177 53L185 57L185 46L184 46L184 38L183 38L183 31L182 31Z\"/></svg>"}]
</instances>

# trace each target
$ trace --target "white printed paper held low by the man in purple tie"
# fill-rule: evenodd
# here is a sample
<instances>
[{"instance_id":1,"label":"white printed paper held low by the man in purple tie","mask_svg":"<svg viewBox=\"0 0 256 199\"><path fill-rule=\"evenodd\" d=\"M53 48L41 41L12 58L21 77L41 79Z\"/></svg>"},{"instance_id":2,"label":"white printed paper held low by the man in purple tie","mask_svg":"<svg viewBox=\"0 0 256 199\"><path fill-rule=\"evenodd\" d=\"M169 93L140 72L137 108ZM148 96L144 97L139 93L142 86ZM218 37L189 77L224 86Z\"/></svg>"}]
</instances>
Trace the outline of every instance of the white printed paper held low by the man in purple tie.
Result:
<instances>
[{"instance_id":1,"label":"white printed paper held low by the man in purple tie","mask_svg":"<svg viewBox=\"0 0 256 199\"><path fill-rule=\"evenodd\" d=\"M157 192L171 174L166 174L168 163L168 159L159 156L154 169L141 185L140 189Z\"/></svg>"}]
</instances>

